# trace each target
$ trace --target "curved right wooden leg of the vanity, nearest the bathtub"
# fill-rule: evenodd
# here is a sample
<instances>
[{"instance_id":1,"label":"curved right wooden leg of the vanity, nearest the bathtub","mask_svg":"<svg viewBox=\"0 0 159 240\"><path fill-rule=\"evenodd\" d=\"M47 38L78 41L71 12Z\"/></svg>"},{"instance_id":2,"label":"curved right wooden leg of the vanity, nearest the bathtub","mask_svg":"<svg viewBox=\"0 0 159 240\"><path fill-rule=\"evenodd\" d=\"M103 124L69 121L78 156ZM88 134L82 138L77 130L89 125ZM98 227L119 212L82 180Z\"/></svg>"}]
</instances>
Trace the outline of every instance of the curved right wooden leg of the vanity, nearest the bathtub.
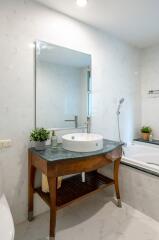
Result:
<instances>
[{"instance_id":1,"label":"curved right wooden leg of the vanity, nearest the bathtub","mask_svg":"<svg viewBox=\"0 0 159 240\"><path fill-rule=\"evenodd\" d=\"M120 191L119 191L119 166L120 166L120 159L117 159L114 162L114 185L115 185L115 192L117 197L117 206L122 207L121 198L120 198Z\"/></svg>"}]
</instances>

